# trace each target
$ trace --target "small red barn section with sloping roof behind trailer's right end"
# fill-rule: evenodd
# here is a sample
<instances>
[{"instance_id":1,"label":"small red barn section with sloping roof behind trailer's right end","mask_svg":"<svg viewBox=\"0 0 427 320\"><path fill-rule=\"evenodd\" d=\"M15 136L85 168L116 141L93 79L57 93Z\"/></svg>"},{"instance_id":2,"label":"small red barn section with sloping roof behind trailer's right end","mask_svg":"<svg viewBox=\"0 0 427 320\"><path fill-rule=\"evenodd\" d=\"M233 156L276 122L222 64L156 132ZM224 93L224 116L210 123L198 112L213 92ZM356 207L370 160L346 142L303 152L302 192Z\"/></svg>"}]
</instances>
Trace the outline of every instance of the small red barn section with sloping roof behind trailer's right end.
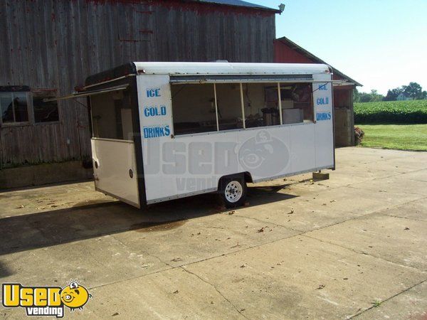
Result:
<instances>
[{"instance_id":1,"label":"small red barn section with sloping roof behind trailer's right end","mask_svg":"<svg viewBox=\"0 0 427 320\"><path fill-rule=\"evenodd\" d=\"M274 41L274 61L277 63L326 63L312 53L283 37ZM354 145L353 90L361 84L332 68L334 80L334 130L336 146Z\"/></svg>"}]
</instances>

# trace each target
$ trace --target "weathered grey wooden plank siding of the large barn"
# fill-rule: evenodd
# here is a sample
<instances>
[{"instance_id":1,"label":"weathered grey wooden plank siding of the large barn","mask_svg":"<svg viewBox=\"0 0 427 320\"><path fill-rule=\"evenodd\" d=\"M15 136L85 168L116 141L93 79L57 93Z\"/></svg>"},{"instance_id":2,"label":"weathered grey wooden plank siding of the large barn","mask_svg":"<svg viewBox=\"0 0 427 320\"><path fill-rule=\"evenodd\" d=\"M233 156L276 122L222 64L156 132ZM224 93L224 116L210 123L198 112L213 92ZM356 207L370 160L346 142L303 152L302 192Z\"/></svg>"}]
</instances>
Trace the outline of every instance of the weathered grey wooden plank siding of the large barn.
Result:
<instances>
[{"instance_id":1,"label":"weathered grey wooden plank siding of the large barn","mask_svg":"<svg viewBox=\"0 0 427 320\"><path fill-rule=\"evenodd\" d=\"M2 0L0 85L56 88L130 61L273 62L275 12L189 1ZM0 129L0 166L90 158L88 112Z\"/></svg>"}]
</instances>

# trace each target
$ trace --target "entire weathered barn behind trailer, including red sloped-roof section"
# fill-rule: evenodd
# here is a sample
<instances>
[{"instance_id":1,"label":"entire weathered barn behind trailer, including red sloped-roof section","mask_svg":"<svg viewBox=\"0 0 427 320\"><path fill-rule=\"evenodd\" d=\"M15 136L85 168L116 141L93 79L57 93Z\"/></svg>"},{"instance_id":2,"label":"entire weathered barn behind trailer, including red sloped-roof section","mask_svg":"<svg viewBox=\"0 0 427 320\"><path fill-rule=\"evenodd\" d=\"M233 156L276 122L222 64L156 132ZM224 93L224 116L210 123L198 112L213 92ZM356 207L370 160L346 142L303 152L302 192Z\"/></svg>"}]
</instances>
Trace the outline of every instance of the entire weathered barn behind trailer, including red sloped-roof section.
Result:
<instances>
[{"instance_id":1,"label":"entire weathered barn behind trailer, including red sloped-roof section","mask_svg":"<svg viewBox=\"0 0 427 320\"><path fill-rule=\"evenodd\" d=\"M85 100L45 102L130 61L325 63L275 39L271 9L241 0L0 1L0 188L90 178ZM335 142L354 144L352 90L334 70Z\"/></svg>"}]
</instances>

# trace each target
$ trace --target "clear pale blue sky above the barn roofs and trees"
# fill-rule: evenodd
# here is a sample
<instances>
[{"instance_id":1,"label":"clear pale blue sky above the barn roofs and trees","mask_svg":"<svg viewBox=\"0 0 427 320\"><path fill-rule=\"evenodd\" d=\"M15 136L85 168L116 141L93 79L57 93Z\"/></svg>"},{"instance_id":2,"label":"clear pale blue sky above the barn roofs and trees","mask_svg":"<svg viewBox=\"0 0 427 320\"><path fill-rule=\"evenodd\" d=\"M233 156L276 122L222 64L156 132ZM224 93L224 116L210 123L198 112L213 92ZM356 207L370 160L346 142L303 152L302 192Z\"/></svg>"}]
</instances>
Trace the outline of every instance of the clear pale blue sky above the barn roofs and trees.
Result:
<instances>
[{"instance_id":1,"label":"clear pale blue sky above the barn roofs and trees","mask_svg":"<svg viewBox=\"0 0 427 320\"><path fill-rule=\"evenodd\" d=\"M279 1L246 0L278 8ZM427 0L282 0L286 36L360 82L359 91L418 82L427 90Z\"/></svg>"}]
</instances>

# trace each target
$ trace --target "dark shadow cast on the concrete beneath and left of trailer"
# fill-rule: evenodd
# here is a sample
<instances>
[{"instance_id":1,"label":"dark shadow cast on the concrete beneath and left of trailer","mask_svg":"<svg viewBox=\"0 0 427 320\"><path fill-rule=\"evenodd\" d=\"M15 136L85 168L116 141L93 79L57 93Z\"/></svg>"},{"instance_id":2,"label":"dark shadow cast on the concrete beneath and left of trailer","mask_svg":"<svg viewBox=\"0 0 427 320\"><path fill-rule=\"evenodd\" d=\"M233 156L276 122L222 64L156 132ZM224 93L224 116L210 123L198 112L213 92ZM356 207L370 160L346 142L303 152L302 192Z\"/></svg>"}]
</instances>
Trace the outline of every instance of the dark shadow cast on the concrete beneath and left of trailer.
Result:
<instances>
[{"instance_id":1,"label":"dark shadow cast on the concrete beneath and left of trailer","mask_svg":"<svg viewBox=\"0 0 427 320\"><path fill-rule=\"evenodd\" d=\"M284 186L248 188L247 207L295 196L278 192ZM0 219L0 255L113 235L128 230L151 232L179 228L186 220L227 212L214 194L158 203L138 210L119 201L76 204Z\"/></svg>"}]
</instances>

